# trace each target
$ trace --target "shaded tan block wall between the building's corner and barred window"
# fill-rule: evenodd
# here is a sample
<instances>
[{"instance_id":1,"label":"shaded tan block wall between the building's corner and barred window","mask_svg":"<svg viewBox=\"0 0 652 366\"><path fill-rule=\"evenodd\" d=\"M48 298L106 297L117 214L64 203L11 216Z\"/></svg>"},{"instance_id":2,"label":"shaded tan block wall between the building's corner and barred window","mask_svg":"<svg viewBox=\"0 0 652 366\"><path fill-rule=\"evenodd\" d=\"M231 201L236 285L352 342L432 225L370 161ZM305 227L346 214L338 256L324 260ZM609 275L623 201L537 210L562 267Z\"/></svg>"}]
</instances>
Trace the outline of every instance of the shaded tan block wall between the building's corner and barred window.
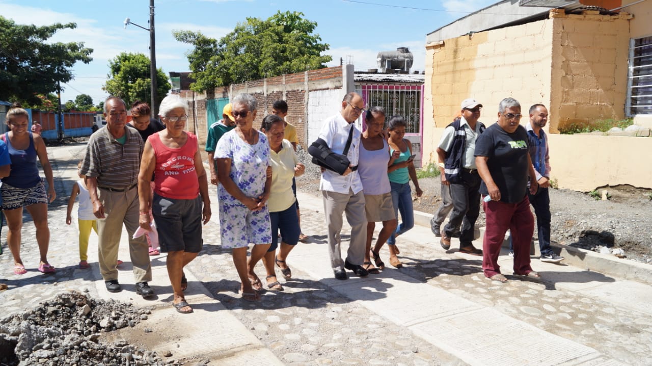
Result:
<instances>
[{"instance_id":1,"label":"shaded tan block wall between the building's corner and barred window","mask_svg":"<svg viewBox=\"0 0 652 366\"><path fill-rule=\"evenodd\" d=\"M551 11L550 131L599 119L623 119L627 97L629 14ZM555 116L556 115L556 116Z\"/></svg>"}]
</instances>

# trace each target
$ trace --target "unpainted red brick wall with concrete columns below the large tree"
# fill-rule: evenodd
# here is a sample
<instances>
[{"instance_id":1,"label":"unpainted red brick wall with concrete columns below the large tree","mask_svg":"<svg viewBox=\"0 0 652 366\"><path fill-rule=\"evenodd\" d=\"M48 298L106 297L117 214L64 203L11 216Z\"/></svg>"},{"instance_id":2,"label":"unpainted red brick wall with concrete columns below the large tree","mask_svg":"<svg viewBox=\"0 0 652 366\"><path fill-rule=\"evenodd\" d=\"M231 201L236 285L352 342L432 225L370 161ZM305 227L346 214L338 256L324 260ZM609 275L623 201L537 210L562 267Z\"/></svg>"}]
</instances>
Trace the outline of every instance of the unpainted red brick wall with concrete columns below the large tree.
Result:
<instances>
[{"instance_id":1,"label":"unpainted red brick wall with concrete columns below the large tree","mask_svg":"<svg viewBox=\"0 0 652 366\"><path fill-rule=\"evenodd\" d=\"M233 84L216 88L211 95L182 91L181 97L188 101L191 110L195 112L188 119L188 129L192 131L193 126L196 126L196 134L200 144L205 144L207 136L206 99L228 97L232 100L233 97L240 93L249 93L258 101L258 112L256 119L254 119L254 128L258 129L263 117L271 114L275 100L284 99L288 102L286 121L297 128L299 144L305 146L308 140L308 108L306 106L308 97L306 93L327 89L342 89L342 67L329 67ZM343 97L344 92L342 91L341 94Z\"/></svg>"}]
</instances>

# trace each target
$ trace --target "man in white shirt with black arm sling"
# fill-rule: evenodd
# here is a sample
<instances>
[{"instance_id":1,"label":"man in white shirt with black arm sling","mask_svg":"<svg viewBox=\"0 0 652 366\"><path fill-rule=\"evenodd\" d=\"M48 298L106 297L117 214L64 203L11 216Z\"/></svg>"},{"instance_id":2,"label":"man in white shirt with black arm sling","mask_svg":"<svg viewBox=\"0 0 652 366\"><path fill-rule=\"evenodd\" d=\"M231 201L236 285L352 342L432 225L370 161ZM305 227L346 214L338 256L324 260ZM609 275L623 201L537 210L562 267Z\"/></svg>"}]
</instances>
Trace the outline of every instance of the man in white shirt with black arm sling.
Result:
<instances>
[{"instance_id":1,"label":"man in white shirt with black arm sling","mask_svg":"<svg viewBox=\"0 0 652 366\"><path fill-rule=\"evenodd\" d=\"M344 174L332 170L323 170L319 189L323 194L324 212L328 224L329 254L335 278L346 280L344 268L351 269L360 277L368 275L361 265L364 262L366 243L366 215L364 213L363 185L357 172L360 130L355 128L355 121L364 110L364 100L357 93L348 93L342 100L340 113L329 117L321 127L319 138L324 140L334 153L342 154L353 129L353 139L346 157L351 165ZM351 241L346 260L342 260L340 250L340 231L342 230L342 213L351 225Z\"/></svg>"}]
</instances>

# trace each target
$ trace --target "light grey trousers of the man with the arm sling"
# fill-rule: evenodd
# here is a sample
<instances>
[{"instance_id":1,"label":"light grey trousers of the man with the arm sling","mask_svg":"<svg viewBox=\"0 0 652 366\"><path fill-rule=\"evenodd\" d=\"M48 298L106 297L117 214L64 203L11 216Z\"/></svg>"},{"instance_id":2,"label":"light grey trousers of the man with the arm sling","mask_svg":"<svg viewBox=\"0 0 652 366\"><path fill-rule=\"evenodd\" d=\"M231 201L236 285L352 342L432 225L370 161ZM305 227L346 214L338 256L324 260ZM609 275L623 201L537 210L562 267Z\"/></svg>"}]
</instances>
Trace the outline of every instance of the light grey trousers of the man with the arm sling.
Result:
<instances>
[{"instance_id":1,"label":"light grey trousers of the man with the arm sling","mask_svg":"<svg viewBox=\"0 0 652 366\"><path fill-rule=\"evenodd\" d=\"M333 270L344 268L342 251L340 249L342 232L342 213L346 213L346 221L351 225L351 241L347 258L349 263L362 265L364 262L364 249L366 247L366 214L364 213L363 191L353 194L342 194L330 191L321 191L323 194L324 212L328 225L329 255Z\"/></svg>"}]
</instances>

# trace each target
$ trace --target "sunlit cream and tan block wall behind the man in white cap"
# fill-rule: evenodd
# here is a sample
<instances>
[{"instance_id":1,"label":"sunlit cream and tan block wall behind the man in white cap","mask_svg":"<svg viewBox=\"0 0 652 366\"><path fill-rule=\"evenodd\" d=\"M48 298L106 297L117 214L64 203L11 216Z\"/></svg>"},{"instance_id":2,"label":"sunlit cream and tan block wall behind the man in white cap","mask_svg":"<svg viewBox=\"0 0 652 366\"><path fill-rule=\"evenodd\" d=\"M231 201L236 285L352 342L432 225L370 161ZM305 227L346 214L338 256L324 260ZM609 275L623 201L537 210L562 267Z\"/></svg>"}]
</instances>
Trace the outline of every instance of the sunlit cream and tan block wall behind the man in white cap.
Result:
<instances>
[{"instance_id":1,"label":"sunlit cream and tan block wall behind the man in white cap","mask_svg":"<svg viewBox=\"0 0 652 366\"><path fill-rule=\"evenodd\" d=\"M426 65L432 68L426 67L424 164L437 160L435 129L451 123L466 98L482 103L485 125L496 122L506 97L518 100L524 111L535 103L550 105L552 28L552 20L541 20L426 46Z\"/></svg>"}]
</instances>

